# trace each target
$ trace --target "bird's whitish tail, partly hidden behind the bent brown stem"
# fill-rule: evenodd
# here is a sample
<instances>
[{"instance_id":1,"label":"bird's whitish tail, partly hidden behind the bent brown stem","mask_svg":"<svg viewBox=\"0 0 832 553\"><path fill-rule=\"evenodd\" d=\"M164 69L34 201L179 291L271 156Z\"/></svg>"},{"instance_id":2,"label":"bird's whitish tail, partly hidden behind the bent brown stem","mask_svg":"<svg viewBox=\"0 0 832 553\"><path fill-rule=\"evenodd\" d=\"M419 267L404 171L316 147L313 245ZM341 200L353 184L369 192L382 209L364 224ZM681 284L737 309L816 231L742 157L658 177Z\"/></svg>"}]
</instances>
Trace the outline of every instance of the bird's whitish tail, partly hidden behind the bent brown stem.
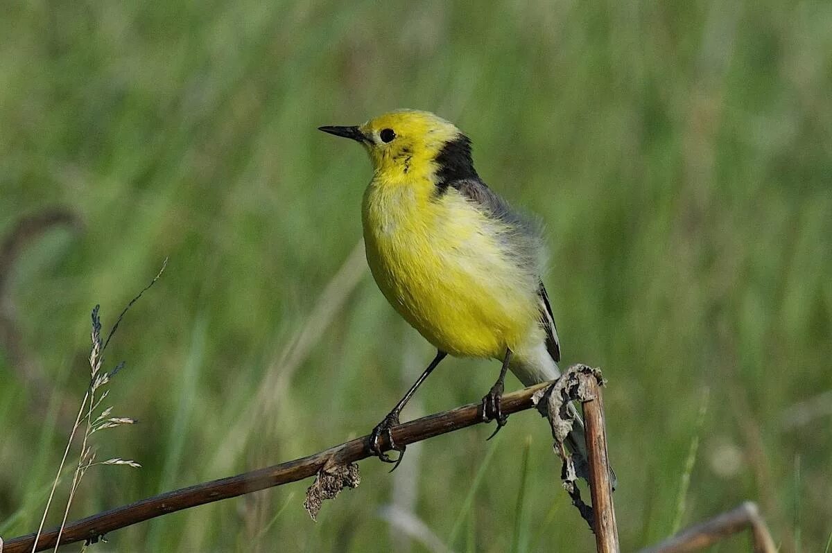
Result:
<instances>
[{"instance_id":1,"label":"bird's whitish tail, partly hidden behind the bent brown stem","mask_svg":"<svg viewBox=\"0 0 832 553\"><path fill-rule=\"evenodd\" d=\"M555 363L555 360L552 359L552 356L547 351L546 346L542 343L530 352L516 355L512 362L509 363L509 368L511 368L514 376L525 386L544 383L561 376L560 368L557 367L557 363ZM545 409L545 405L542 405L542 408ZM589 464L587 461L587 441L583 419L572 403L569 404L569 410L575 417L575 424L572 426L572 432L569 432L565 443L569 451L572 452L577 475L587 480ZM543 412L543 414L545 415L546 413Z\"/></svg>"}]
</instances>

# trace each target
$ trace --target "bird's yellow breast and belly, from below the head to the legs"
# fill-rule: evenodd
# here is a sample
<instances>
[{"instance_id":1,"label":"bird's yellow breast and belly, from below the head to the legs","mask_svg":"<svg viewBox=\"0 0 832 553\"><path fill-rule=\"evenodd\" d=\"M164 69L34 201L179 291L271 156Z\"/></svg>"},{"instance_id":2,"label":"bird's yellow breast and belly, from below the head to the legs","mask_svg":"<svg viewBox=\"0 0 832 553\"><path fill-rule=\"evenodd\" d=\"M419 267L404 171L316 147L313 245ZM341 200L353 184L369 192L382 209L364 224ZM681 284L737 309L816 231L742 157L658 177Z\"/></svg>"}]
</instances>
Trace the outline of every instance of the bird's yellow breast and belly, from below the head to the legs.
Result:
<instances>
[{"instance_id":1,"label":"bird's yellow breast and belly, from below the head to the legs","mask_svg":"<svg viewBox=\"0 0 832 553\"><path fill-rule=\"evenodd\" d=\"M452 355L502 358L541 339L537 283L507 254L505 224L453 188L432 190L374 182L364 194L367 261L384 296Z\"/></svg>"}]
</instances>

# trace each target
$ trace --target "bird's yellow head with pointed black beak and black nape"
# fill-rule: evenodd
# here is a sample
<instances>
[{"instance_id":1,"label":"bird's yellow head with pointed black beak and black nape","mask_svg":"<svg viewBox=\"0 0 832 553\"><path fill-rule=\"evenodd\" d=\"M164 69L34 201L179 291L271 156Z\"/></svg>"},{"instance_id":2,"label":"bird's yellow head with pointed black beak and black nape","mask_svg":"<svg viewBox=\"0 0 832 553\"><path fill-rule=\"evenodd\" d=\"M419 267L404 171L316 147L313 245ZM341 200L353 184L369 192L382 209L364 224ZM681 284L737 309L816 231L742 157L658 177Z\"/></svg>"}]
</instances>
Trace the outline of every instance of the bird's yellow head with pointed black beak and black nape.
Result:
<instances>
[{"instance_id":1,"label":"bird's yellow head with pointed black beak and black nape","mask_svg":"<svg viewBox=\"0 0 832 553\"><path fill-rule=\"evenodd\" d=\"M377 178L388 182L422 177L443 185L477 175L468 136L429 111L390 111L364 125L319 129L358 141Z\"/></svg>"}]
</instances>

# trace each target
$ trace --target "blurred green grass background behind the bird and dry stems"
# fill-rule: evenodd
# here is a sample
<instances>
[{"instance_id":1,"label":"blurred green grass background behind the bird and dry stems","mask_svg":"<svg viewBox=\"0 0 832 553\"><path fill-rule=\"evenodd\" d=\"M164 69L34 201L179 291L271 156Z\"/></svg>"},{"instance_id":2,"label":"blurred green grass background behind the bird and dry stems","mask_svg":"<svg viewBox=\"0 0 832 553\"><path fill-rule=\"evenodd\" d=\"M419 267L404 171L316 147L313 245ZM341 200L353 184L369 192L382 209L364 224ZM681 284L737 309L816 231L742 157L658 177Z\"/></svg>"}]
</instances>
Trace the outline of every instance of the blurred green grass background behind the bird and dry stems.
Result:
<instances>
[{"instance_id":1,"label":"blurred green grass background behind the bird and dry stems","mask_svg":"<svg viewBox=\"0 0 832 553\"><path fill-rule=\"evenodd\" d=\"M457 122L484 180L546 221L565 364L610 383L624 550L746 499L781 551L823 550L829 404L784 421L832 388L830 2L2 11L0 235L52 205L84 222L12 271L4 309L45 380L0 346L4 538L37 528L87 384L89 309L112 323L166 256L108 353L127 361L116 414L141 424L97 434L99 458L144 467L88 473L72 518L369 432L433 352L348 261L369 163L315 127L415 107ZM497 372L448 360L405 418L478 401ZM490 430L411 447L393 475L363 462L317 523L304 482L97 548L429 551L391 530L395 501L454 551L593 551L546 425Z\"/></svg>"}]
</instances>

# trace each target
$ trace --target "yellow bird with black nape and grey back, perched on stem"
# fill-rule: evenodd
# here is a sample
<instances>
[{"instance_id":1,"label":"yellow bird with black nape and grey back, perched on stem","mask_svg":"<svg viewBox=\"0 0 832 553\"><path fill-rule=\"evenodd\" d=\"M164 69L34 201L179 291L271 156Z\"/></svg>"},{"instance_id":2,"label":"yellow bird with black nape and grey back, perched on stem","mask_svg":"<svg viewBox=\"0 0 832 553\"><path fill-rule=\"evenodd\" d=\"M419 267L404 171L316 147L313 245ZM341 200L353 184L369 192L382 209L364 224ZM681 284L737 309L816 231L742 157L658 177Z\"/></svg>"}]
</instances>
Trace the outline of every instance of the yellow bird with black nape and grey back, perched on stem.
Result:
<instances>
[{"instance_id":1,"label":"yellow bird with black nape and grey back, perched on stem","mask_svg":"<svg viewBox=\"0 0 832 553\"><path fill-rule=\"evenodd\" d=\"M374 427L369 452L399 466L405 448L391 428L448 355L502 362L481 402L483 422L497 422L493 437L508 421L500 407L508 370L525 386L560 375L561 346L542 282L542 224L489 188L474 169L468 136L429 111L389 111L363 125L319 130L357 141L369 154L373 177L361 220L370 272L389 304L437 351ZM585 460L582 434L576 425L567 446ZM384 440L398 458L385 452Z\"/></svg>"}]
</instances>

